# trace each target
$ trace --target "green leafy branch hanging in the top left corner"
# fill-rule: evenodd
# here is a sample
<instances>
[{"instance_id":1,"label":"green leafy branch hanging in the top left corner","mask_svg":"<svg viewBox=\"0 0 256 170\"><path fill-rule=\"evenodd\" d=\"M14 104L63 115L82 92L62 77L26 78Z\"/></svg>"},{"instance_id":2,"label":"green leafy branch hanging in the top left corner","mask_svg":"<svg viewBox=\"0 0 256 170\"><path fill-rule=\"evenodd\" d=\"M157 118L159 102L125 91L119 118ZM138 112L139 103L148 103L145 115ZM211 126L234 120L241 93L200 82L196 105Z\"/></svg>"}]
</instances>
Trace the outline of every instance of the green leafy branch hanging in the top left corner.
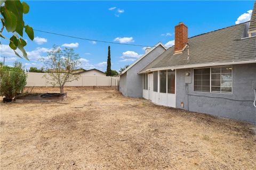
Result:
<instances>
[{"instance_id":1,"label":"green leafy branch hanging in the top left corner","mask_svg":"<svg viewBox=\"0 0 256 170\"><path fill-rule=\"evenodd\" d=\"M23 14L29 12L29 5L25 2L1 0L1 22L2 28L0 30L0 37L10 41L9 46L14 50L15 55L21 57L17 52L17 48L22 52L23 57L27 60L27 53L24 47L27 45L23 40L23 30L27 33L28 37L34 39L34 30L29 25L25 25L23 21ZM3 35L4 28L7 32L12 32L13 36L9 39ZM0 42L1 43L1 42ZM21 57L22 58L22 57Z\"/></svg>"}]
</instances>

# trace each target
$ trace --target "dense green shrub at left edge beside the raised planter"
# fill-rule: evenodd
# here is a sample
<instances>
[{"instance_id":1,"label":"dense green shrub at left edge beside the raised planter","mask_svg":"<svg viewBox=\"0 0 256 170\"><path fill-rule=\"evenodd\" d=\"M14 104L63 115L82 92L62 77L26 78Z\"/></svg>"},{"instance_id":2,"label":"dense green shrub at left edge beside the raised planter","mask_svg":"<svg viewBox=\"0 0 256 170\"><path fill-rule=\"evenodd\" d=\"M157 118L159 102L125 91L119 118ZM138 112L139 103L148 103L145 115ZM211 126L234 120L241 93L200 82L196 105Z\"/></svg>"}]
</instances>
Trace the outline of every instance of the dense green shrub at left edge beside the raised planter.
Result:
<instances>
[{"instance_id":1,"label":"dense green shrub at left edge beside the raised planter","mask_svg":"<svg viewBox=\"0 0 256 170\"><path fill-rule=\"evenodd\" d=\"M6 99L13 99L26 85L27 75L21 64L14 64L14 67L0 65L0 90L1 96Z\"/></svg>"}]
</instances>

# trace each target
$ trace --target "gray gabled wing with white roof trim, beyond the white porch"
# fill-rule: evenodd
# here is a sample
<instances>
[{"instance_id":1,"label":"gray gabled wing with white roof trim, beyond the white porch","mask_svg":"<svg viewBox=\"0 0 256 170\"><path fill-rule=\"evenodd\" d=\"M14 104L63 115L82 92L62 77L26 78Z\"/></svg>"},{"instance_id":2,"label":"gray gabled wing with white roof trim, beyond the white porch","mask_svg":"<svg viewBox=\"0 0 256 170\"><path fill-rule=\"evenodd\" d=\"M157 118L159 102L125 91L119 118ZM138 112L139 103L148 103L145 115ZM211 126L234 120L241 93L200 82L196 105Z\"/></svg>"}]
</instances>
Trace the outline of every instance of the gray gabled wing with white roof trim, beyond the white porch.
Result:
<instances>
[{"instance_id":1,"label":"gray gabled wing with white roof trim, beyond the white porch","mask_svg":"<svg viewBox=\"0 0 256 170\"><path fill-rule=\"evenodd\" d=\"M142 97L143 90L141 89L141 87L142 78L144 77L142 74L138 74L138 72L160 54L165 52L165 50L166 48L162 43L158 43L152 48L147 47L145 50L145 54L139 57L134 63L132 63L119 75L119 91L122 92L124 96Z\"/></svg>"}]
</instances>

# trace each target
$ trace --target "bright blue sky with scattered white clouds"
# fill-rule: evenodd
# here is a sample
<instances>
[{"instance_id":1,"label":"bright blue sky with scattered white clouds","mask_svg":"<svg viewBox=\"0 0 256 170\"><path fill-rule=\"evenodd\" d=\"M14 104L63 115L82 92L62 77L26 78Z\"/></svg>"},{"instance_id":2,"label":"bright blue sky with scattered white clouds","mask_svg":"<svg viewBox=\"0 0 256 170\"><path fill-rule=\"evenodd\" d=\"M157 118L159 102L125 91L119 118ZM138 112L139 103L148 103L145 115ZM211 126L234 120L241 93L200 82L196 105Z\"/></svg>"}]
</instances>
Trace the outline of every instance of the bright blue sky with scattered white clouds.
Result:
<instances>
[{"instance_id":1,"label":"bright blue sky with scattered white clouds","mask_svg":"<svg viewBox=\"0 0 256 170\"><path fill-rule=\"evenodd\" d=\"M173 45L174 26L184 22L188 36L249 20L254 1L26 1L30 11L25 23L34 29L116 43L154 46L159 41ZM248 12L249 11L249 12ZM240 17L239 17L240 16ZM239 19L238 19L239 18ZM5 32L6 35L6 32ZM19 59L1 39L1 56L6 64L15 60L41 67L40 57L55 45L73 46L82 58L84 69L106 71L108 45L111 46L111 69L119 70L145 53L143 47L95 43L92 41L50 35L35 31L28 37L26 50L30 61ZM3 58L1 58L3 61Z\"/></svg>"}]
</instances>

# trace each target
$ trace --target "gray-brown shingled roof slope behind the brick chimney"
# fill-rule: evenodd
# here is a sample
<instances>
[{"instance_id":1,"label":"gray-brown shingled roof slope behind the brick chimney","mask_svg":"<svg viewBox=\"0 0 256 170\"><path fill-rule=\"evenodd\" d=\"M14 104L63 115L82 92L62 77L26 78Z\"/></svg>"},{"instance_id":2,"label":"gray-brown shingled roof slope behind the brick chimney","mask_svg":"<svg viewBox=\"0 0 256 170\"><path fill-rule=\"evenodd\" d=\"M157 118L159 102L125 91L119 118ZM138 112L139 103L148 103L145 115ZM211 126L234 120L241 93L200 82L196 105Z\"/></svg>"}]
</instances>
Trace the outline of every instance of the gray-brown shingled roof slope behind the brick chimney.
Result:
<instances>
[{"instance_id":1,"label":"gray-brown shingled roof slope behind the brick chimney","mask_svg":"<svg viewBox=\"0 0 256 170\"><path fill-rule=\"evenodd\" d=\"M174 46L172 46L139 73L199 66L256 63L256 37L242 38L245 24L241 23L191 37L188 39L188 47L182 53L174 54Z\"/></svg>"}]
</instances>

